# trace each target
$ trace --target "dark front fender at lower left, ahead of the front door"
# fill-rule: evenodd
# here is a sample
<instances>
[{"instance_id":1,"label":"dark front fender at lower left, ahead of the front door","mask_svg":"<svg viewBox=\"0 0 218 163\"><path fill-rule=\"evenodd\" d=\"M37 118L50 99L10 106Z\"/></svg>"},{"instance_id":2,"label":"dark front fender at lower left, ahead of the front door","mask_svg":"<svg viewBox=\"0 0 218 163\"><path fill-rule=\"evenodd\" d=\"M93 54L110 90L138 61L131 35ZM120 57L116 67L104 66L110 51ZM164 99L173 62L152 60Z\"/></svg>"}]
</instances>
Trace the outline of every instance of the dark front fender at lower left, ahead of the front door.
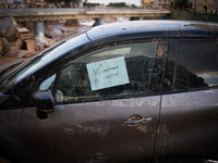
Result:
<instances>
[{"instance_id":1,"label":"dark front fender at lower left, ahead of the front door","mask_svg":"<svg viewBox=\"0 0 218 163\"><path fill-rule=\"evenodd\" d=\"M0 153L15 162L28 162L23 141L21 115L23 110L0 110Z\"/></svg>"}]
</instances>

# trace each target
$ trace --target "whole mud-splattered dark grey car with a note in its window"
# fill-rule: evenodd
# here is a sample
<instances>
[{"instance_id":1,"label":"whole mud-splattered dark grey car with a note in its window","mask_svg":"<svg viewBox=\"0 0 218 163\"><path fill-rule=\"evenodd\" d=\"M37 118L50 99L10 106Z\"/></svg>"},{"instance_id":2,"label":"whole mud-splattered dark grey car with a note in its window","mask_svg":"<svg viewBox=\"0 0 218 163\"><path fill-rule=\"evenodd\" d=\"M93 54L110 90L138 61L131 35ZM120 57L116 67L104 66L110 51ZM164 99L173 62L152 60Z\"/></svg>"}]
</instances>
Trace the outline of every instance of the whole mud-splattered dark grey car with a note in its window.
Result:
<instances>
[{"instance_id":1,"label":"whole mud-splattered dark grey car with a note in its window","mask_svg":"<svg viewBox=\"0 0 218 163\"><path fill-rule=\"evenodd\" d=\"M218 24L94 27L2 72L2 160L218 160Z\"/></svg>"}]
</instances>

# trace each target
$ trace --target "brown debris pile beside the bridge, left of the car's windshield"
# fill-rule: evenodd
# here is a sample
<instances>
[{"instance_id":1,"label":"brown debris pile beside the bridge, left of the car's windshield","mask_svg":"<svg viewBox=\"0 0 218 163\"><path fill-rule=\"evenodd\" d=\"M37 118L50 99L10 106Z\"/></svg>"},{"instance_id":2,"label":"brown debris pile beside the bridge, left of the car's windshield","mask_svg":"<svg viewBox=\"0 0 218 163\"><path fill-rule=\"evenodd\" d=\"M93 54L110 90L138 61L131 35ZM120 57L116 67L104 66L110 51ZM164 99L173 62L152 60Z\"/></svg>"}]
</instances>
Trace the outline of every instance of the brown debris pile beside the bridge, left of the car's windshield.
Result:
<instances>
[{"instance_id":1,"label":"brown debris pile beside the bridge, left of the car's windshield","mask_svg":"<svg viewBox=\"0 0 218 163\"><path fill-rule=\"evenodd\" d=\"M0 57L28 58L56 43L52 39L32 35L13 17L0 20Z\"/></svg>"}]
</instances>

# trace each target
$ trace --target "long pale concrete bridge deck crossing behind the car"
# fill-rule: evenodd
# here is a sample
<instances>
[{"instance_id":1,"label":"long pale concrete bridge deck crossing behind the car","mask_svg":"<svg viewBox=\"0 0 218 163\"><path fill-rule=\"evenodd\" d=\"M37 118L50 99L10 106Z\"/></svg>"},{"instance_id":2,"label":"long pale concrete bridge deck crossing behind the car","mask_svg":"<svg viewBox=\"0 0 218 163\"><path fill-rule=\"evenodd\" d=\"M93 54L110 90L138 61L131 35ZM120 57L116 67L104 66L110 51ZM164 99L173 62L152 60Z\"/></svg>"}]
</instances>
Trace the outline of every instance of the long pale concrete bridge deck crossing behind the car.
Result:
<instances>
[{"instance_id":1,"label":"long pale concrete bridge deck crossing behind the car","mask_svg":"<svg viewBox=\"0 0 218 163\"><path fill-rule=\"evenodd\" d=\"M85 9L0 9L1 16L13 16L17 22L105 18L105 17L160 17L170 15L170 11L138 9L138 10L95 10Z\"/></svg>"}]
</instances>

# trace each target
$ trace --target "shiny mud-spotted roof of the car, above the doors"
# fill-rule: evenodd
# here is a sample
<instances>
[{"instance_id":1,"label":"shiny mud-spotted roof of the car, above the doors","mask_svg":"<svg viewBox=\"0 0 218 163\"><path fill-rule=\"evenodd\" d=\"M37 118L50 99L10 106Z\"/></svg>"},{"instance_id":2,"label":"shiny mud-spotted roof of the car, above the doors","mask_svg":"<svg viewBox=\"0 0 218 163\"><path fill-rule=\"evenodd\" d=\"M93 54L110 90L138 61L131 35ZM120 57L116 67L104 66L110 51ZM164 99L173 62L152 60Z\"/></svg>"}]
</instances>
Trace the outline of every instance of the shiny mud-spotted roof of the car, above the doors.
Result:
<instances>
[{"instance_id":1,"label":"shiny mud-spotted roof of the car, above the doors","mask_svg":"<svg viewBox=\"0 0 218 163\"><path fill-rule=\"evenodd\" d=\"M130 21L94 27L87 32L90 40L110 37L218 37L218 23L194 21Z\"/></svg>"}]
</instances>

